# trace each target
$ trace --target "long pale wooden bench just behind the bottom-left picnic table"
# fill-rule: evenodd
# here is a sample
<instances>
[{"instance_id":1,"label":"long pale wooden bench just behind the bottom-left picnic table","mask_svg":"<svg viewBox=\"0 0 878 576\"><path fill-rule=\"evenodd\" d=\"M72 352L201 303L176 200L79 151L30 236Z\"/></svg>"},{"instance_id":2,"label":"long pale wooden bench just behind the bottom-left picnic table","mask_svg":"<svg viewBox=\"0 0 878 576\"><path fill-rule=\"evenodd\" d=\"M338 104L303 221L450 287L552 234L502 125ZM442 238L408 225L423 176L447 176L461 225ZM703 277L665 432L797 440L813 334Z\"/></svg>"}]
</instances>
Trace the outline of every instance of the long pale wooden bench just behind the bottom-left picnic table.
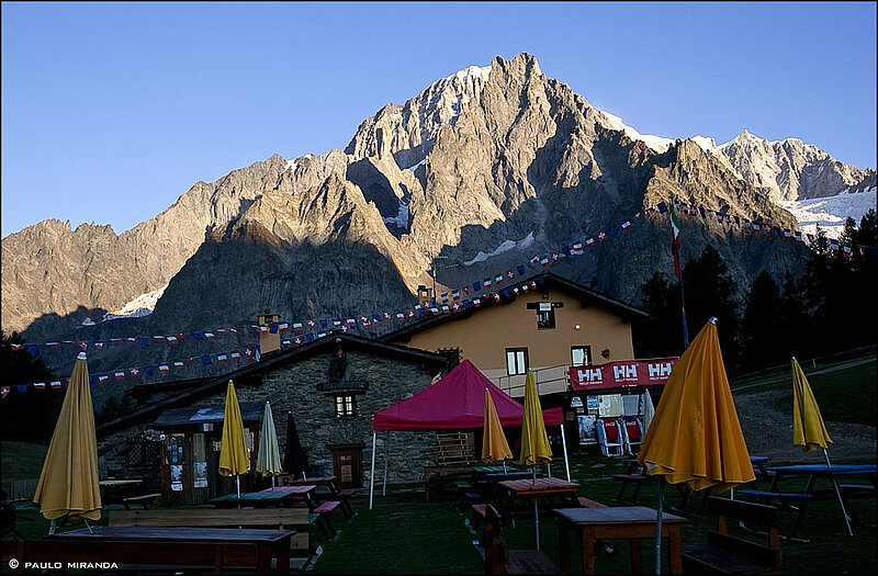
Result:
<instances>
[{"instance_id":1,"label":"long pale wooden bench just behind the bottom-left picnic table","mask_svg":"<svg viewBox=\"0 0 878 576\"><path fill-rule=\"evenodd\" d=\"M168 527L168 528L271 528L295 530L290 540L290 551L308 555L308 530L320 516L307 508L179 508L162 510L110 510L112 527Z\"/></svg>"}]
</instances>

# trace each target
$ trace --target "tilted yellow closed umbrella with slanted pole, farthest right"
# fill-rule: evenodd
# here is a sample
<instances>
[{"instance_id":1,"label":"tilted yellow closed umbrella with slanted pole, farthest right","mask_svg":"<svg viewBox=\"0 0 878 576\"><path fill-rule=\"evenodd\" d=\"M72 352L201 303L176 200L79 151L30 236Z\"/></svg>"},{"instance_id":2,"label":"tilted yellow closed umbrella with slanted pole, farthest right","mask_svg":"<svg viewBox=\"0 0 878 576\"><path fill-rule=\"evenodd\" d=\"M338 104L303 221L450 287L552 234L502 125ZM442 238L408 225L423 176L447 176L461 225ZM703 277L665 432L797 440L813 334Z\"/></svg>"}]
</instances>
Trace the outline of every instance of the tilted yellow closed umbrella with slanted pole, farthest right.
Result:
<instances>
[{"instance_id":1,"label":"tilted yellow closed umbrella with slanted pole, farthest right","mask_svg":"<svg viewBox=\"0 0 878 576\"><path fill-rule=\"evenodd\" d=\"M823 458L826 460L826 467L832 471L832 463L830 462L830 454L826 448L832 445L832 439L823 425L823 417L820 416L820 407L817 405L814 393L811 392L811 386L808 384L808 379L804 376L804 371L796 357L792 357L792 443L802 447L806 452L814 450L823 450ZM851 529L851 520L847 516L847 510L844 508L844 499L842 492L838 488L838 483L835 476L832 478L832 485L835 487L835 495L838 497L838 506L842 507L842 515L844 515L844 523L847 527L847 533L854 535Z\"/></svg>"}]
</instances>

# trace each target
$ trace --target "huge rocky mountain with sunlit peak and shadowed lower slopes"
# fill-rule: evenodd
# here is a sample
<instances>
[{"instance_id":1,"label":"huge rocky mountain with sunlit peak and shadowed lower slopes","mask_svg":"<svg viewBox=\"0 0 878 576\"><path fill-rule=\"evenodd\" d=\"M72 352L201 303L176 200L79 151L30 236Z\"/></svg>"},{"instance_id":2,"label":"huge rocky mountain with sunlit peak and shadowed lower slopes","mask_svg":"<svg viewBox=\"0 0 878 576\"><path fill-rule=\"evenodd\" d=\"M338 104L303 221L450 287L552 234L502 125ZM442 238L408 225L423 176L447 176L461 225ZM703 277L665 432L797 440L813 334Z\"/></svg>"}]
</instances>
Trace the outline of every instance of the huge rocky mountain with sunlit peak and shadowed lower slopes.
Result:
<instances>
[{"instance_id":1,"label":"huge rocky mountain with sunlit peak and shadowed lower slopes","mask_svg":"<svg viewBox=\"0 0 878 576\"><path fill-rule=\"evenodd\" d=\"M783 166L774 143L746 132L736 140L741 166ZM784 154L810 154L793 148ZM76 234L57 221L43 227L57 228L53 235L4 239L2 323L22 329L78 306L120 309L165 286L148 319L155 330L234 324L264 307L302 318L402 306L429 283L435 257L451 266L439 281L462 285L675 199L792 225L719 150L711 138L640 135L545 78L532 55L496 57L386 104L345 150L274 155L198 182L120 236L95 231L80 242L86 249L61 249ZM640 236L620 236L618 248L607 242L566 274L596 276L601 289L635 302L640 282L664 266L656 262L671 262L653 223L639 222ZM716 235L744 280L762 260L739 258L719 226L706 227L699 241ZM46 289L35 294L33 285Z\"/></svg>"}]
</instances>

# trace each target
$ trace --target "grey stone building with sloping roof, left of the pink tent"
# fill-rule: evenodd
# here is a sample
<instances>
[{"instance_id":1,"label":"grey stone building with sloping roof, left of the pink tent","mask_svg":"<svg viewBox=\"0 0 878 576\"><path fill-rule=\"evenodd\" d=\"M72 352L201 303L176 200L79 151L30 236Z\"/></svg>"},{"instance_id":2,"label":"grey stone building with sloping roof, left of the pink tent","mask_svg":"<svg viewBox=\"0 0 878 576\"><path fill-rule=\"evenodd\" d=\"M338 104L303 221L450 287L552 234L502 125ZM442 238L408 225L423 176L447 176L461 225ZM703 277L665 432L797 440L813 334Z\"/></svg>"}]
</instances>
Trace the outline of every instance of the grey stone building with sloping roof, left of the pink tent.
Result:
<instances>
[{"instance_id":1,"label":"grey stone building with sloping roof, left of the pink tent","mask_svg":"<svg viewBox=\"0 0 878 576\"><path fill-rule=\"evenodd\" d=\"M362 486L369 482L374 413L425 389L448 369L440 354L338 332L266 353L258 362L222 377L189 381L182 387L179 383L150 384L154 394L149 400L98 428L101 476L114 471L117 476L144 477L155 488L160 485L170 498L162 501L171 502L202 502L234 492L234 479L216 472L222 408L232 380L243 411L247 411L245 406L258 410L258 420L245 418L252 445L259 445L259 407L270 402L281 451L291 413L300 441L308 451L311 474L339 475L333 447L359 450L348 479ZM143 400L144 387L132 394ZM381 434L378 442L382 465L376 474L383 474L381 459L386 448L389 483L423 481L424 466L434 463L435 432ZM178 459L175 450L180 447ZM252 472L255 452L251 472L241 478L241 490L270 485ZM345 473L350 475L351 470Z\"/></svg>"}]
</instances>

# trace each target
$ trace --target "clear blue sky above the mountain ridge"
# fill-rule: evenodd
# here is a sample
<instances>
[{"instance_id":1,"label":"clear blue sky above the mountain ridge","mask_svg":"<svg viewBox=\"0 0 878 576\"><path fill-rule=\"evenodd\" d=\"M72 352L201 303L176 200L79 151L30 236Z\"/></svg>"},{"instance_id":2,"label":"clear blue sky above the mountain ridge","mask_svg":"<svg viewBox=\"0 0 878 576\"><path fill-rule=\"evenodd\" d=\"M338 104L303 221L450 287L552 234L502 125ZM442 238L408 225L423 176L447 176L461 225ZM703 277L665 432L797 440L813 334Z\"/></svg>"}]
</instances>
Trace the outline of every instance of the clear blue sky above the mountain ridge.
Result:
<instances>
[{"instance_id":1,"label":"clear blue sky above the mountain ridge","mask_svg":"<svg viewBox=\"0 0 878 576\"><path fill-rule=\"evenodd\" d=\"M2 236L121 234L520 52L641 134L747 129L876 167L874 2L3 2Z\"/></svg>"}]
</instances>

